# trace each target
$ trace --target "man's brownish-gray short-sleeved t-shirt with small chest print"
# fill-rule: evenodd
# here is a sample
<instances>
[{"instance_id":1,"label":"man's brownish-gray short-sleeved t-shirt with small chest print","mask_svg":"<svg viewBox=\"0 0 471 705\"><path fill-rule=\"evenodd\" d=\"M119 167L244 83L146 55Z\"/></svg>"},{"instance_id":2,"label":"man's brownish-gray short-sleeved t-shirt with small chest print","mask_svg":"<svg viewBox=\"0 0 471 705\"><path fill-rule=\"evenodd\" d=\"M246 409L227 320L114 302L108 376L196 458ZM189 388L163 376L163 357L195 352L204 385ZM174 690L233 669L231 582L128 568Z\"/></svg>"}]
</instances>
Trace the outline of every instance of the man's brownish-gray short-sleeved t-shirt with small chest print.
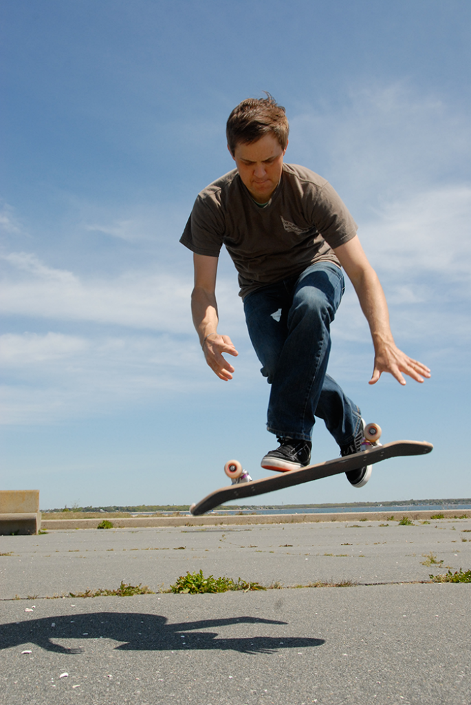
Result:
<instances>
[{"instance_id":1,"label":"man's brownish-gray short-sleeved t-shirt with small chest print","mask_svg":"<svg viewBox=\"0 0 471 705\"><path fill-rule=\"evenodd\" d=\"M344 202L322 176L283 164L265 207L253 201L237 169L199 193L180 242L197 255L218 257L225 245L239 272L242 297L313 262L339 265L332 248L356 235Z\"/></svg>"}]
</instances>

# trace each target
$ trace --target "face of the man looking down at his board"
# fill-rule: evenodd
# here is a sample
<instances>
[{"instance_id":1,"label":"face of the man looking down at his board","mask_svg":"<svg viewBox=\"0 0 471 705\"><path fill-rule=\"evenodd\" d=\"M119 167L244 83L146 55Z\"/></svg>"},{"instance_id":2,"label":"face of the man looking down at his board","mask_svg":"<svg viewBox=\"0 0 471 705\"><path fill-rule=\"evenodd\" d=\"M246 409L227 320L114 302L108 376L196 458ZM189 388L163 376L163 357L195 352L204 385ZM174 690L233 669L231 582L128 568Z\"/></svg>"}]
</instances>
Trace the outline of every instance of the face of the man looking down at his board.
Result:
<instances>
[{"instance_id":1,"label":"face of the man looking down at his board","mask_svg":"<svg viewBox=\"0 0 471 705\"><path fill-rule=\"evenodd\" d=\"M268 203L280 183L283 157L286 152L274 135L264 135L257 142L247 145L239 142L234 161L242 183L257 203Z\"/></svg>"}]
</instances>

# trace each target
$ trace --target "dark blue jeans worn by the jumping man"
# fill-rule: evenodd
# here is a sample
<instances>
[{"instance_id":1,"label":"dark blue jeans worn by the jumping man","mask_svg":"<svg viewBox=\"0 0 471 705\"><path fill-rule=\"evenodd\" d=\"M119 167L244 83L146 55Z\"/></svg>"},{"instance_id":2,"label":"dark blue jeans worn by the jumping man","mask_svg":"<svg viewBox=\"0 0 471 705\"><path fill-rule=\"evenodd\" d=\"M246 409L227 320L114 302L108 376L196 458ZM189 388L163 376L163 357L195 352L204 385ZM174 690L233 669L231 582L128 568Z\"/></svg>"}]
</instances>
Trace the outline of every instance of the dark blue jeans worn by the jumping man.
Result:
<instances>
[{"instance_id":1,"label":"dark blue jeans worn by the jumping man","mask_svg":"<svg viewBox=\"0 0 471 705\"><path fill-rule=\"evenodd\" d=\"M339 445L360 429L360 409L327 374L330 324L343 293L341 269L318 262L244 299L249 336L271 384L267 428L277 436L310 441L315 417Z\"/></svg>"}]
</instances>

